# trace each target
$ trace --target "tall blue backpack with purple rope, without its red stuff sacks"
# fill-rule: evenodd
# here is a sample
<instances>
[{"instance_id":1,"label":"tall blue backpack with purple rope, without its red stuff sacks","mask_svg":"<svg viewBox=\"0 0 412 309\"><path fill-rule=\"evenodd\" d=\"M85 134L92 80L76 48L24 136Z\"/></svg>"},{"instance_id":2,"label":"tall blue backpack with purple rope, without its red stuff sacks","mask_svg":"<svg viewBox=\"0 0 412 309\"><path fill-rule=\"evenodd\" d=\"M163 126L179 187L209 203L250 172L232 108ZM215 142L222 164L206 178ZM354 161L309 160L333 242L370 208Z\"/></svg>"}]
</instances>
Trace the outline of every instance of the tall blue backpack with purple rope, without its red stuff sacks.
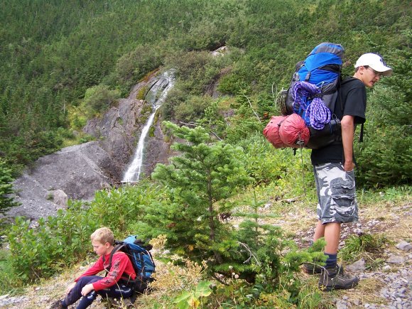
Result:
<instances>
[{"instance_id":1,"label":"tall blue backpack with purple rope, without its red stuff sacks","mask_svg":"<svg viewBox=\"0 0 412 309\"><path fill-rule=\"evenodd\" d=\"M343 54L340 44L320 43L296 65L282 114L296 113L303 118L310 131L308 148L320 148L340 137L340 119L332 112L340 88Z\"/></svg>"}]
</instances>

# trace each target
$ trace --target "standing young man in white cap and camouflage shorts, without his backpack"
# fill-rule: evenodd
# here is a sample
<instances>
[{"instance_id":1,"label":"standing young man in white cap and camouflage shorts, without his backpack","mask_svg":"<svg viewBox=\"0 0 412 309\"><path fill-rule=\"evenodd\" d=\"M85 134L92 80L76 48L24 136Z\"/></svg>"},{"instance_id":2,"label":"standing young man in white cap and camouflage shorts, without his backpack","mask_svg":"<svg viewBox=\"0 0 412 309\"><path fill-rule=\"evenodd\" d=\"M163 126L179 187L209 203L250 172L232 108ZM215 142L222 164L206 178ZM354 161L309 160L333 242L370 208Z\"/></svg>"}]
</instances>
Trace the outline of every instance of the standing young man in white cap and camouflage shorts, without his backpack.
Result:
<instances>
[{"instance_id":1,"label":"standing young man in white cap and camouflage shorts, without his backpack","mask_svg":"<svg viewBox=\"0 0 412 309\"><path fill-rule=\"evenodd\" d=\"M325 237L326 266L305 265L307 273L321 273L319 286L326 291L347 289L357 285L359 278L348 276L337 265L340 225L356 222L358 207L354 183L354 131L365 121L366 88L374 87L381 76L389 76L392 69L374 53L362 55L354 65L353 77L342 82L334 114L341 120L342 141L312 151L311 161L318 193L318 224L314 240Z\"/></svg>"}]
</instances>

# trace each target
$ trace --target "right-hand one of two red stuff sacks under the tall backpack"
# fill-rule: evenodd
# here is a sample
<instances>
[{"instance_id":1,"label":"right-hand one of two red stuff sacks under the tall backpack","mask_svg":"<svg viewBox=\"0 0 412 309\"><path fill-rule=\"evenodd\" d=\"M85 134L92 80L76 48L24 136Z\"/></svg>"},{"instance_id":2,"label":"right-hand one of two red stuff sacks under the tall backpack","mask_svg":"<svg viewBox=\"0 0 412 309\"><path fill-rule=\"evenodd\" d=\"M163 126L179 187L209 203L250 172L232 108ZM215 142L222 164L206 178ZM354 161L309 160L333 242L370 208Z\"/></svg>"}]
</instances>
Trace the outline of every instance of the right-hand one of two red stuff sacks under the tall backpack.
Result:
<instances>
[{"instance_id":1,"label":"right-hand one of two red stuff sacks under the tall backpack","mask_svg":"<svg viewBox=\"0 0 412 309\"><path fill-rule=\"evenodd\" d=\"M291 114L282 121L279 136L286 146L303 148L309 141L310 133L303 118L298 114Z\"/></svg>"}]
</instances>

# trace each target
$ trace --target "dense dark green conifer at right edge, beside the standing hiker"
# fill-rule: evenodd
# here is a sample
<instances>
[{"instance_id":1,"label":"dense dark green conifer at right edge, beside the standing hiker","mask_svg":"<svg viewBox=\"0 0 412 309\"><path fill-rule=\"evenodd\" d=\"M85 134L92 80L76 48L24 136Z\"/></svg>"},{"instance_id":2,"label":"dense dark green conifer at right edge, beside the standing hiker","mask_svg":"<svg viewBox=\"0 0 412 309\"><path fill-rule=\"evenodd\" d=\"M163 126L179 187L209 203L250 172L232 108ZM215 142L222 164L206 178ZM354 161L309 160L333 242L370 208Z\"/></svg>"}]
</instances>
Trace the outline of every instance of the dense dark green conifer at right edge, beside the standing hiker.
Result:
<instances>
[{"instance_id":1,"label":"dense dark green conifer at right edge, beside the standing hiker","mask_svg":"<svg viewBox=\"0 0 412 309\"><path fill-rule=\"evenodd\" d=\"M411 32L405 33L410 41ZM411 182L411 50L394 51L394 74L370 98L364 143L357 143L360 183L369 186Z\"/></svg>"}]
</instances>

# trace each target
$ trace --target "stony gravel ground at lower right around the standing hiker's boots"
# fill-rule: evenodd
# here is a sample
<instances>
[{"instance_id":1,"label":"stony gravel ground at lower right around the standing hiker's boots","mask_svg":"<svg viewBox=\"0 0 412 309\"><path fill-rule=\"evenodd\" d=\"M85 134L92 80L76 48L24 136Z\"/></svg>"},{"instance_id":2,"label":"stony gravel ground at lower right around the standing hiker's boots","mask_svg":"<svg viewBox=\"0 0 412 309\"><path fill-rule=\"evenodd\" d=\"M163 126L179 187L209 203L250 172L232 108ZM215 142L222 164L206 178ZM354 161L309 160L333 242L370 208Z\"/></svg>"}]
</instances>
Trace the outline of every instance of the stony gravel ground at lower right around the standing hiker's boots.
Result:
<instances>
[{"instance_id":1,"label":"stony gravel ground at lower right around the standing hiker's boots","mask_svg":"<svg viewBox=\"0 0 412 309\"><path fill-rule=\"evenodd\" d=\"M383 260L379 269L369 271L364 259L345 266L345 271L359 277L359 287L339 291L334 299L336 308L412 308L412 203L392 208L391 212L386 213L385 219L362 219L362 211L360 217L357 224L342 225L340 248L345 246L345 239L352 234L384 233L394 244L387 246L379 255L379 259ZM303 237L300 240L310 242L313 231L298 234ZM306 246L305 242L301 246ZM378 288L370 291L369 283ZM365 297L364 291L372 293Z\"/></svg>"}]
</instances>

